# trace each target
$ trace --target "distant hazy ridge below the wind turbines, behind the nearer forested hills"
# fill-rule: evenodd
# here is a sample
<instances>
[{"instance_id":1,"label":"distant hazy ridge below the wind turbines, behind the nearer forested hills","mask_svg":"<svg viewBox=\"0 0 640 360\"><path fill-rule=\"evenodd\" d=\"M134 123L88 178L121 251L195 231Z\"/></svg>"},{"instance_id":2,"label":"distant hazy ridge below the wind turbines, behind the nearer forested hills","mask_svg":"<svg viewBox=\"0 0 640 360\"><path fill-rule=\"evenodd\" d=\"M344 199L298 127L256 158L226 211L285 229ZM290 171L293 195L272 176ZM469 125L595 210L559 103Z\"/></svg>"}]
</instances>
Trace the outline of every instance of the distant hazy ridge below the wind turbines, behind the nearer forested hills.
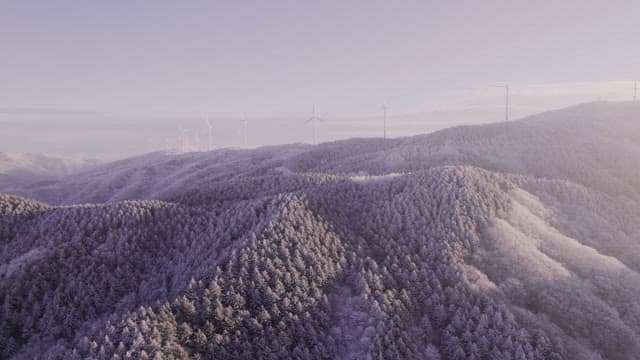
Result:
<instances>
[{"instance_id":1,"label":"distant hazy ridge below the wind turbines, behind the nearer forested hills","mask_svg":"<svg viewBox=\"0 0 640 360\"><path fill-rule=\"evenodd\" d=\"M629 163L629 159L640 156L640 127L634 117L637 112L640 106L635 103L589 103L510 123L455 127L386 141L354 139L317 147L283 145L182 155L152 153L11 192L54 204L169 199L181 191L215 182L273 174L277 168L344 176L471 165L566 179L637 198L640 169ZM586 149L572 150L576 148ZM606 172L595 176L593 168L604 168Z\"/></svg>"}]
</instances>

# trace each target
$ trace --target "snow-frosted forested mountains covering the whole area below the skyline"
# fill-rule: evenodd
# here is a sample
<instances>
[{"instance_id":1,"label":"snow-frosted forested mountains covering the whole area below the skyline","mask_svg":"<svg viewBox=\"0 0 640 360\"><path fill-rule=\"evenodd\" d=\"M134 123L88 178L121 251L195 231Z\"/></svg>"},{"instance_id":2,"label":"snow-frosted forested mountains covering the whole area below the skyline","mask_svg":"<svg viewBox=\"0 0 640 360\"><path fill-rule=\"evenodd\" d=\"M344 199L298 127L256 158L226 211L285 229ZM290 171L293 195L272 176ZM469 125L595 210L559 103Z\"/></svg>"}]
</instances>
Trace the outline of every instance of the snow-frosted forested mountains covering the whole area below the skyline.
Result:
<instances>
[{"instance_id":1,"label":"snow-frosted forested mountains covering the whole area below the skyline","mask_svg":"<svg viewBox=\"0 0 640 360\"><path fill-rule=\"evenodd\" d=\"M0 191L0 358L637 359L640 104Z\"/></svg>"}]
</instances>

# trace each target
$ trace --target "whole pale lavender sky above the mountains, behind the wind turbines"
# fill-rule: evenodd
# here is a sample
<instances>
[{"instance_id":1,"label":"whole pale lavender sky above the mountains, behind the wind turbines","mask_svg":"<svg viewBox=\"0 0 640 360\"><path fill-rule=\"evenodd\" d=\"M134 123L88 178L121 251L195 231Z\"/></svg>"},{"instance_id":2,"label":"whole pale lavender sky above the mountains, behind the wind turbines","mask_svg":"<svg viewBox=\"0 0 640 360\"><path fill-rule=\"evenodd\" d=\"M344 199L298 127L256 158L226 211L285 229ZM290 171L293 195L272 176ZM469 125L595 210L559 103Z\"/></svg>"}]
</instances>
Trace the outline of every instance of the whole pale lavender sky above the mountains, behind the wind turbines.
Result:
<instances>
[{"instance_id":1,"label":"whole pale lavender sky above the mountains, behind the wind turbines","mask_svg":"<svg viewBox=\"0 0 640 360\"><path fill-rule=\"evenodd\" d=\"M512 117L631 100L639 13L638 1L0 0L0 151L122 157L175 143L177 126L201 148L204 117L215 147L238 145L242 117L250 146L309 142L312 104L321 141L377 136L367 124L383 103L391 135L409 135L500 120L492 86L505 83Z\"/></svg>"}]
</instances>

